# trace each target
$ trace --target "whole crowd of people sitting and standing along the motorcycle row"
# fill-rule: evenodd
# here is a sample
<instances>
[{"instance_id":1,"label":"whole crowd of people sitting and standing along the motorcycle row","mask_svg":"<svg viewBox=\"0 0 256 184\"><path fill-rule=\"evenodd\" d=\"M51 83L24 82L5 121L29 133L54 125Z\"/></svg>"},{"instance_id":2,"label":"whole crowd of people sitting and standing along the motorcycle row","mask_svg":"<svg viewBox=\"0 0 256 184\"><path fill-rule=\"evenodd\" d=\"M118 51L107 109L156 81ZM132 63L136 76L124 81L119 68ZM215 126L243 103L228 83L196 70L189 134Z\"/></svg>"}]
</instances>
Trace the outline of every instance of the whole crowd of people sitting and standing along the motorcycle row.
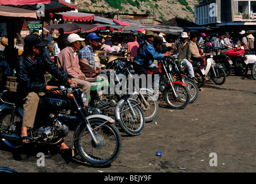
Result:
<instances>
[{"instance_id":1,"label":"whole crowd of people sitting and standing along the motorcycle row","mask_svg":"<svg viewBox=\"0 0 256 184\"><path fill-rule=\"evenodd\" d=\"M133 62L135 73L139 75L148 75L148 68L156 66L156 60L171 56L173 51L179 51L178 58L188 68L189 77L197 83L191 62L205 61L198 48L211 46L223 49L231 47L234 43L243 45L245 49L255 48L253 35L249 34L246 37L244 31L240 32L240 39L234 42L235 39L228 33L218 33L209 37L205 33L194 34L185 29L174 43L166 41L166 34L155 34L152 30L146 30L144 34L129 34L127 39L123 38L120 43L119 39L113 39L108 35L101 37L94 32L87 34L86 38L77 33L66 36L63 29L59 29L59 34L59 37L54 39L54 60L46 48L47 43L41 41L37 34L29 34L24 39L24 52L17 63L17 91L25 102L21 129L24 143L29 142L27 130L28 127L33 128L40 95L45 91L60 93L58 90L51 91L56 86L45 84L45 72L49 72L59 81L82 86L89 96L91 85L87 79L93 78L94 74L102 70L101 60L95 55L95 51L118 53L121 48L127 49L127 57ZM88 106L88 99L85 106ZM69 148L62 142L60 150Z\"/></svg>"}]
</instances>

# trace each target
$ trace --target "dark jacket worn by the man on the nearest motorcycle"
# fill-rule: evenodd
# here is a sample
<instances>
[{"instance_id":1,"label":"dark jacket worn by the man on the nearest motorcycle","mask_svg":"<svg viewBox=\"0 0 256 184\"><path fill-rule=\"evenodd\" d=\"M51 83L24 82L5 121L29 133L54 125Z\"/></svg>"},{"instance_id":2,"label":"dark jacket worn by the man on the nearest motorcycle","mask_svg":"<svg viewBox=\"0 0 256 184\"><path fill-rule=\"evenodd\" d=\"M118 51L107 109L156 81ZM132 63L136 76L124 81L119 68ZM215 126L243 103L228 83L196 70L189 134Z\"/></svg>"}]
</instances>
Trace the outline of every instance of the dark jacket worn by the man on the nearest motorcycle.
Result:
<instances>
[{"instance_id":1,"label":"dark jacket worn by the man on the nearest motorcycle","mask_svg":"<svg viewBox=\"0 0 256 184\"><path fill-rule=\"evenodd\" d=\"M17 62L17 92L20 95L26 95L30 92L44 92L46 91L45 85L45 72L57 78L60 82L67 83L70 76L62 69L58 68L52 62L47 48L41 49L40 56L36 56L36 64L29 59L27 55L22 54Z\"/></svg>"}]
</instances>

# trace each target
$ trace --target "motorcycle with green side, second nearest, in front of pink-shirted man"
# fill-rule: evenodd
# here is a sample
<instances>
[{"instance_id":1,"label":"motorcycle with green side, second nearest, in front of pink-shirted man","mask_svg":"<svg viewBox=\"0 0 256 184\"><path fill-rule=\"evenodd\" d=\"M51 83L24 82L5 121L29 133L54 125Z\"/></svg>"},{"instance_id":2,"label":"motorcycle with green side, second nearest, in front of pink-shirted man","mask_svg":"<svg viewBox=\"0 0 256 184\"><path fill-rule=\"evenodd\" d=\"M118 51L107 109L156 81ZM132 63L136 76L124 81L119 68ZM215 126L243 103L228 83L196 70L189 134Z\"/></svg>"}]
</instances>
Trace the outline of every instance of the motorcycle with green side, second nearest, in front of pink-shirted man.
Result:
<instances>
[{"instance_id":1,"label":"motorcycle with green side, second nearest, in front of pink-shirted man","mask_svg":"<svg viewBox=\"0 0 256 184\"><path fill-rule=\"evenodd\" d=\"M89 81L92 86L90 91L91 98L89 98L89 111L92 114L109 114L109 111L112 110L110 108L114 108L116 125L119 124L128 135L140 135L145 125L143 110L138 101L129 98L127 93L123 93L120 90L125 88L125 86L123 82L121 83L118 74L124 68L122 68L119 62L115 61L113 64L115 70L111 70L108 74L99 75L93 79L94 81ZM110 81L110 85L109 82L106 85L106 81ZM99 93L101 92L104 95L100 96Z\"/></svg>"}]
</instances>

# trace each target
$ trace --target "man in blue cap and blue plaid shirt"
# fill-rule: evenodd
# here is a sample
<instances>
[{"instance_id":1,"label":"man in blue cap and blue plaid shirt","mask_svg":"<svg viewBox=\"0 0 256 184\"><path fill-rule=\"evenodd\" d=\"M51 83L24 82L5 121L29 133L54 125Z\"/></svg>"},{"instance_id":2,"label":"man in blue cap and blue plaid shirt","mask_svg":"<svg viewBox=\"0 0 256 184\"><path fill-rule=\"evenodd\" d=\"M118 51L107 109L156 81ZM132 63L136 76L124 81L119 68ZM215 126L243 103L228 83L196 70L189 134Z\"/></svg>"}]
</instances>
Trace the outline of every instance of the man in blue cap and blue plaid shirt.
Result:
<instances>
[{"instance_id":1,"label":"man in blue cap and blue plaid shirt","mask_svg":"<svg viewBox=\"0 0 256 184\"><path fill-rule=\"evenodd\" d=\"M94 62L95 57L94 57L93 51L94 49L98 48L101 37L98 37L96 33L90 33L88 34L86 40L88 44L86 45L86 47L82 48L79 51L79 59L86 59L90 67L97 72L100 70L100 68L95 66L95 62Z\"/></svg>"}]
</instances>

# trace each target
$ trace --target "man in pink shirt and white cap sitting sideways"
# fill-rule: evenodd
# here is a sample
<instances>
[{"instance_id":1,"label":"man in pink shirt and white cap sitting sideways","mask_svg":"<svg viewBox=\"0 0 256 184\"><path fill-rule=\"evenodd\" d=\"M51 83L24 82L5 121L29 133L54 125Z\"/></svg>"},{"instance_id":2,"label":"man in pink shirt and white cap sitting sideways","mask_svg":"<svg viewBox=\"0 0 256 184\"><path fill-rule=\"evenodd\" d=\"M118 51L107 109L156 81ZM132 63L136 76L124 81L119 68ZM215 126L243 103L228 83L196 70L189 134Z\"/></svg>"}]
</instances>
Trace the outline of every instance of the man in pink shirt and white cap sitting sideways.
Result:
<instances>
[{"instance_id":1,"label":"man in pink shirt and white cap sitting sideways","mask_svg":"<svg viewBox=\"0 0 256 184\"><path fill-rule=\"evenodd\" d=\"M85 106L88 106L88 100L91 90L90 82L85 81L85 74L80 69L79 58L77 51L81 47L82 39L78 34L72 33L67 37L67 47L62 49L58 55L58 67L66 71L72 81L77 82L78 86L81 86L86 91L87 101Z\"/></svg>"}]
</instances>

